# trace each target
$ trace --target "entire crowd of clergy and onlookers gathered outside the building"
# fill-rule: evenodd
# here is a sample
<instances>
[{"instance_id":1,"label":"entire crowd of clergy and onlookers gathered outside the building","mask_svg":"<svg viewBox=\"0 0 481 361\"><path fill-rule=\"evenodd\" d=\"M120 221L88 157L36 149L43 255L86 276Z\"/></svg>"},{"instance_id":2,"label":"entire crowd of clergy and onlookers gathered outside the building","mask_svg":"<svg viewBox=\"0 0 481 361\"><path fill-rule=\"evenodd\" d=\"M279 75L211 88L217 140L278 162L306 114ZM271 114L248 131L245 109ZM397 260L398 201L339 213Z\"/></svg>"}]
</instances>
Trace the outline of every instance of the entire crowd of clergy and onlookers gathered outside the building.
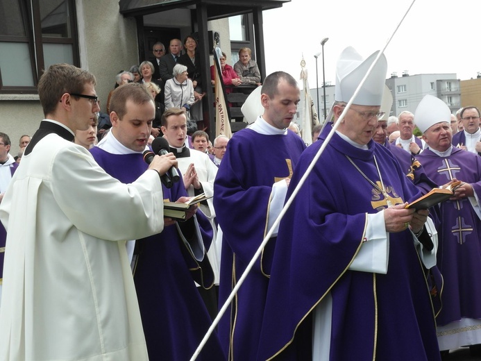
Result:
<instances>
[{"instance_id":1,"label":"entire crowd of clergy and onlookers gathered outside the building","mask_svg":"<svg viewBox=\"0 0 481 361\"><path fill-rule=\"evenodd\" d=\"M333 117L307 146L297 81L261 84L244 48L221 72L262 86L264 111L211 142L188 128L204 90L196 45L155 43L156 65L117 74L110 127L94 75L51 65L20 165L0 133L0 358L189 360L268 233L197 360L480 355L480 110L452 115L428 95L389 117L385 56L348 47ZM407 207L457 181L447 201ZM164 201L201 194L164 217Z\"/></svg>"}]
</instances>

